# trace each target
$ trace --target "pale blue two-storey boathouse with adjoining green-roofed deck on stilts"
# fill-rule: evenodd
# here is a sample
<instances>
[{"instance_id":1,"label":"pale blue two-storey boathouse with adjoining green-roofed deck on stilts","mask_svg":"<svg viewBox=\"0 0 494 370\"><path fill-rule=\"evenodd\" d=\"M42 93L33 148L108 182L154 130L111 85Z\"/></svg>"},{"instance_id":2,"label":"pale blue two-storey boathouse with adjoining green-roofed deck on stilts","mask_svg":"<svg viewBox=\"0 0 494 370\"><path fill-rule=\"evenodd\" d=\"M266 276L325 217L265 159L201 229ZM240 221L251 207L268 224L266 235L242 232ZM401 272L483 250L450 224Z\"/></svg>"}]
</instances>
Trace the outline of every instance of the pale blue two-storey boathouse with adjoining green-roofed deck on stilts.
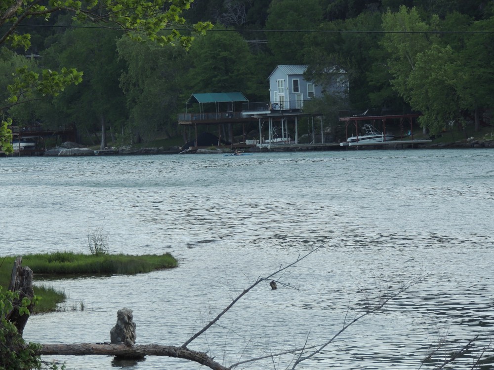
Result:
<instances>
[{"instance_id":1,"label":"pale blue two-storey boathouse with adjoining green-roofed deck on stilts","mask_svg":"<svg viewBox=\"0 0 494 370\"><path fill-rule=\"evenodd\" d=\"M192 94L186 102L186 112L178 115L178 125L184 127L186 148L209 145L230 148L301 146L298 127L301 119L308 123L305 127L310 127L311 140L304 145L329 145L325 140L323 116L304 112L304 102L322 97L325 89L331 93L346 92L348 80L344 72L338 73L335 82L323 89L322 86L305 80L303 74L306 69L307 65L277 66L268 77L268 101L249 102L241 92ZM237 130L238 125L242 125L243 141L239 143L233 142L234 125ZM206 128L210 132L211 126L217 126L215 143L204 145L199 131L205 131ZM257 134L247 138L246 129L252 132L254 126L258 130ZM194 135L191 140L192 132ZM320 138L317 143L316 137Z\"/></svg>"}]
</instances>

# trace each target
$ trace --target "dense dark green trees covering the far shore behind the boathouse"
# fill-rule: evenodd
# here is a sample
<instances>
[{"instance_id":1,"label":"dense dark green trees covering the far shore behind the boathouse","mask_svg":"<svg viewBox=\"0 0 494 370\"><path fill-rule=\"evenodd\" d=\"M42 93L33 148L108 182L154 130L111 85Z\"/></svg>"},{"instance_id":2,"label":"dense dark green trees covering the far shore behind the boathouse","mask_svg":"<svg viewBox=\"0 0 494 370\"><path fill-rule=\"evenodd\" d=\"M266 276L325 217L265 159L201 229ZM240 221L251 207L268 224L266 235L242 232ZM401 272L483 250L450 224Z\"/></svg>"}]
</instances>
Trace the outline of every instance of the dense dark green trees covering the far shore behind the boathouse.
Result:
<instances>
[{"instance_id":1,"label":"dense dark green trees covering the far shore behind the boathouse","mask_svg":"<svg viewBox=\"0 0 494 370\"><path fill-rule=\"evenodd\" d=\"M73 68L82 81L2 113L16 125L75 124L94 142L104 129L129 144L176 135L176 114L194 92L268 100L267 77L280 64L308 64L307 78L322 85L329 67L347 71L348 101L326 96L308 106L329 120L338 110L420 111L420 123L435 133L453 121L478 128L493 107L493 1L195 0L184 18L176 28L185 36L187 25L214 27L189 45L166 28L151 39L128 38L63 9L23 20L27 50L0 50L1 99L23 66Z\"/></svg>"}]
</instances>

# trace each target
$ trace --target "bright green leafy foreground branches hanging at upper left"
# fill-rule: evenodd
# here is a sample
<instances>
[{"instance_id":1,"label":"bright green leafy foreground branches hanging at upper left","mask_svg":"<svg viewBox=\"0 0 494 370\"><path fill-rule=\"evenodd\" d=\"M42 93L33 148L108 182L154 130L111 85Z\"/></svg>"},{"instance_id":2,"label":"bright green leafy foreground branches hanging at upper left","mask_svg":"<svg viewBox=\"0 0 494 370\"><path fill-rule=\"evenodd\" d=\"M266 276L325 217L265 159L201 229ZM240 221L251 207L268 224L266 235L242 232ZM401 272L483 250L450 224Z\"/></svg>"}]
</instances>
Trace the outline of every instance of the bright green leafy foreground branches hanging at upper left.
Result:
<instances>
[{"instance_id":1,"label":"bright green leafy foreground branches hanging at upper left","mask_svg":"<svg viewBox=\"0 0 494 370\"><path fill-rule=\"evenodd\" d=\"M158 44L178 44L189 48L193 35L180 34L176 27L183 27L182 12L193 0L4 0L0 3L0 45L11 48L30 45L30 35L18 32L20 26L31 17L48 18L54 13L69 12L80 22L92 22L100 27L118 29L130 37L150 39ZM204 33L209 23L198 22L189 27L193 33ZM14 83L9 85L10 104L22 99L34 99L47 94L57 95L66 86L82 81L82 73L73 68L60 71L42 70L41 73L22 68L17 71ZM7 107L4 107L5 110ZM5 124L6 123L6 124ZM4 120L0 131L2 149L11 151L8 144L9 120ZM4 127L4 128L3 128Z\"/></svg>"}]
</instances>

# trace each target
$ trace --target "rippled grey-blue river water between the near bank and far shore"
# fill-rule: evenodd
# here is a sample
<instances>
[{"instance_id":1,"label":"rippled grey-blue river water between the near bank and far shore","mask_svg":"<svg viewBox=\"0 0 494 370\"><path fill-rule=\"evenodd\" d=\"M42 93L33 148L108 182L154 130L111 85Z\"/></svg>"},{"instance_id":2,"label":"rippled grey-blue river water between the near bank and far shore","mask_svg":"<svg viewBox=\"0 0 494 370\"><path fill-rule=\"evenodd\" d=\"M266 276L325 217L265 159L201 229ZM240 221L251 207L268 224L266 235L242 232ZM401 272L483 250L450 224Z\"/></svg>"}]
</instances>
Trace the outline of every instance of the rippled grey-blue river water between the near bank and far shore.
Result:
<instances>
[{"instance_id":1,"label":"rippled grey-blue river water between the near bank and far shore","mask_svg":"<svg viewBox=\"0 0 494 370\"><path fill-rule=\"evenodd\" d=\"M180 346L258 277L317 247L277 277L278 290L260 284L188 347L230 366L323 344L364 312L366 299L375 304L419 277L298 368L419 369L439 340L446 343L433 359L480 335L460 361L471 366L493 334L492 149L0 162L3 255L88 253L87 235L103 227L111 253L180 260L135 276L37 280L69 299L61 312L29 319L29 341L109 341L117 310L128 307L137 344ZM285 369L293 358L240 368ZM162 357L45 359L67 369L201 367Z\"/></svg>"}]
</instances>

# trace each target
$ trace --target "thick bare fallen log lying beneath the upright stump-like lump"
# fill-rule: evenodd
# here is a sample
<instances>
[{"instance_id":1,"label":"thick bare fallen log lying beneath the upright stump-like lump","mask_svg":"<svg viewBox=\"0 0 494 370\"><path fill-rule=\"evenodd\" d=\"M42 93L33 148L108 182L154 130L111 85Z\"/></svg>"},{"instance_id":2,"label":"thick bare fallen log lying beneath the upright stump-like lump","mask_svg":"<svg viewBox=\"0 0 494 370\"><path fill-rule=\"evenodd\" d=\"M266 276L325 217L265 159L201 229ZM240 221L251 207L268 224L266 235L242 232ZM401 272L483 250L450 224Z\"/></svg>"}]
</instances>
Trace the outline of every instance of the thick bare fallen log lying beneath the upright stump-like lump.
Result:
<instances>
[{"instance_id":1,"label":"thick bare fallen log lying beneath the upright stump-like lump","mask_svg":"<svg viewBox=\"0 0 494 370\"><path fill-rule=\"evenodd\" d=\"M41 344L38 355L106 355L126 358L142 358L144 356L167 356L197 362L213 370L227 370L204 352L193 351L188 348L164 346L159 344L145 344L127 346L125 344Z\"/></svg>"}]
</instances>

